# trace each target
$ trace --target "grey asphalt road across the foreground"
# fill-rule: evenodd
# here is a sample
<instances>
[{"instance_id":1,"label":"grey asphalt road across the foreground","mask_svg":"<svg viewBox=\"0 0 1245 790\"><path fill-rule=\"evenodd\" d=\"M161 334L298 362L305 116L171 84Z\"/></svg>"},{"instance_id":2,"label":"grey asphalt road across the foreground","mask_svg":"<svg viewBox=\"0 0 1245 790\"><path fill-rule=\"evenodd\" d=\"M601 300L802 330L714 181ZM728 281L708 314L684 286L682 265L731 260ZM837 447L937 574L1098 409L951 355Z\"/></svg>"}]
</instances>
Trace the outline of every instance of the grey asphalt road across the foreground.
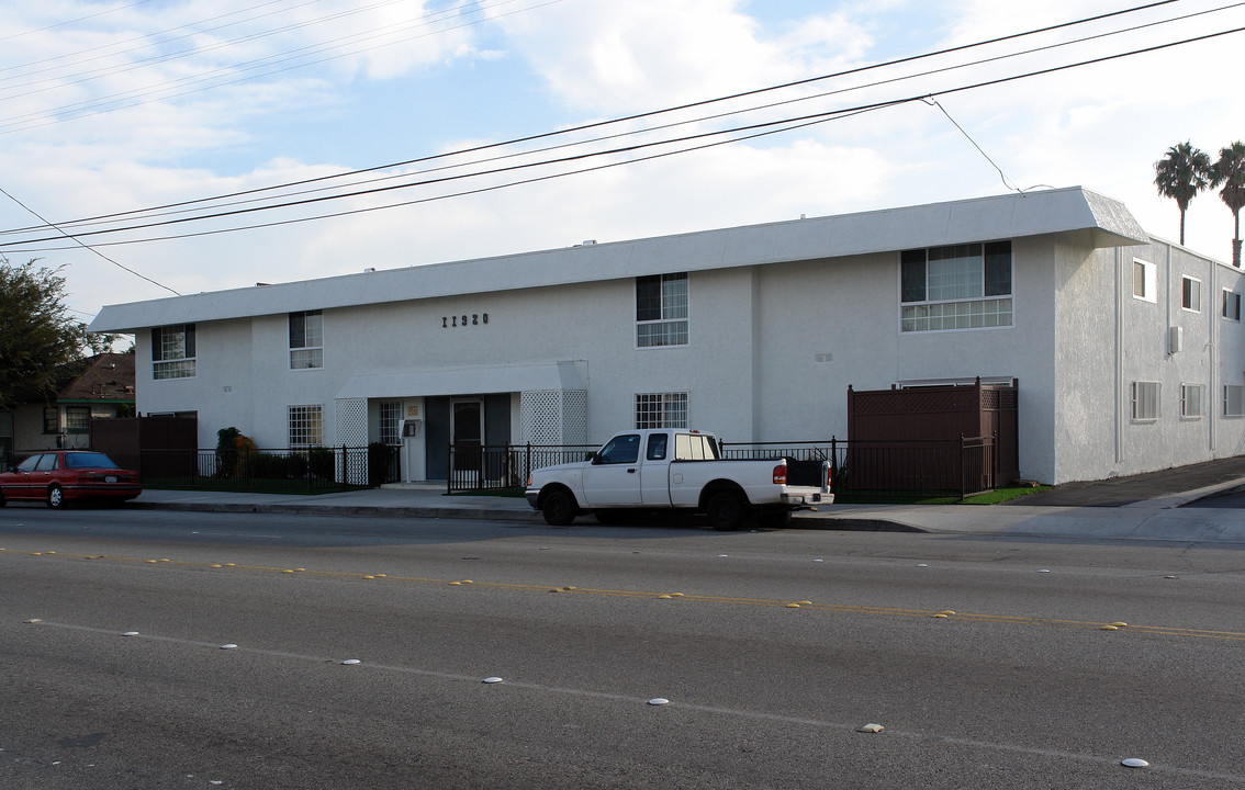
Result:
<instances>
[{"instance_id":1,"label":"grey asphalt road across the foreground","mask_svg":"<svg viewBox=\"0 0 1245 790\"><path fill-rule=\"evenodd\" d=\"M1245 786L1236 550L11 505L0 549L0 788Z\"/></svg>"}]
</instances>

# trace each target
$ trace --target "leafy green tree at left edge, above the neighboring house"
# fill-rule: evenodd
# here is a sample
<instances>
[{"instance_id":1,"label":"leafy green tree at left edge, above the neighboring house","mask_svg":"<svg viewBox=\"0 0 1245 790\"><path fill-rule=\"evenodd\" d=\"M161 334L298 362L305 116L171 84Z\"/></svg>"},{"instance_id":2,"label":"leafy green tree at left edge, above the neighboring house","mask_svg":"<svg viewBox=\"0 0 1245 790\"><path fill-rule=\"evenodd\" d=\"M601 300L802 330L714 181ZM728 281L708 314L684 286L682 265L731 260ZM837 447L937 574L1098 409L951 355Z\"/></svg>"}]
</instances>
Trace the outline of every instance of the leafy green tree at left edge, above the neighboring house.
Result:
<instances>
[{"instance_id":1,"label":"leafy green tree at left edge, above the neighboring house","mask_svg":"<svg viewBox=\"0 0 1245 790\"><path fill-rule=\"evenodd\" d=\"M0 407L51 389L56 368L111 343L67 316L60 269L0 258Z\"/></svg>"}]
</instances>

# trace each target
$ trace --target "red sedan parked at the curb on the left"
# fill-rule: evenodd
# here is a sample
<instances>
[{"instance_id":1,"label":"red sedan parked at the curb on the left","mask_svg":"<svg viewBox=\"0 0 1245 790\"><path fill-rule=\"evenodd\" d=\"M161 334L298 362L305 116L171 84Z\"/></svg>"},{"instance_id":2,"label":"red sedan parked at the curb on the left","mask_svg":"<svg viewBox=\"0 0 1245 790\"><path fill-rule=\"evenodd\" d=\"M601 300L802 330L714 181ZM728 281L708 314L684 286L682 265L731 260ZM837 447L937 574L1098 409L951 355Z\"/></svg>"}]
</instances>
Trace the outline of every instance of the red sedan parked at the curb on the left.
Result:
<instances>
[{"instance_id":1,"label":"red sedan parked at the curb on the left","mask_svg":"<svg viewBox=\"0 0 1245 790\"><path fill-rule=\"evenodd\" d=\"M137 472L121 469L103 453L90 450L35 453L0 474L0 506L10 499L41 499L49 508L82 499L120 504L142 493Z\"/></svg>"}]
</instances>

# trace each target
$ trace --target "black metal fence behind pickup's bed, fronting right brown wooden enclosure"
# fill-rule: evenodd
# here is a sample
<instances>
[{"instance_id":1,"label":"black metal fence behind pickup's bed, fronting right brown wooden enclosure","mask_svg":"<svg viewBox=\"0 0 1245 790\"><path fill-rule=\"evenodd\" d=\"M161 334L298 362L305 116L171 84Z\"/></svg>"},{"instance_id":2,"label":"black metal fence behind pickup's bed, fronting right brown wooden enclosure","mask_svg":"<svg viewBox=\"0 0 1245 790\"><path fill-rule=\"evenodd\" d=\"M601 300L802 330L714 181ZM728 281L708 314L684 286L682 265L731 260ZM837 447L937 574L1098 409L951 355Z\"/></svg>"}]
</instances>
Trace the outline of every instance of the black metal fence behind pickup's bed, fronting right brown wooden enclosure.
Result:
<instances>
[{"instance_id":1,"label":"black metal fence behind pickup's bed, fronting right brown wooden enclosure","mask_svg":"<svg viewBox=\"0 0 1245 790\"><path fill-rule=\"evenodd\" d=\"M909 442L722 443L722 458L828 460L835 493L954 494L961 499L994 490L998 454L995 437Z\"/></svg>"}]
</instances>

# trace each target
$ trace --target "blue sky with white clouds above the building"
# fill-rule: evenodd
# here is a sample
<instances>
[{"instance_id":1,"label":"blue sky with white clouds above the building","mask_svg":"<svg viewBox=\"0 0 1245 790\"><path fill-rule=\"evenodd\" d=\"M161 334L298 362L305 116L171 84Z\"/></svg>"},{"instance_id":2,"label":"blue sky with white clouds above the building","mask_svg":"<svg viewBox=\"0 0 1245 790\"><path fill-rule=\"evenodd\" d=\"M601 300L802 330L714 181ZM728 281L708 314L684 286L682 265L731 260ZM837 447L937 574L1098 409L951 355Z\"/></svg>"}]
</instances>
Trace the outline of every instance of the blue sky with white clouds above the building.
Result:
<instances>
[{"instance_id":1,"label":"blue sky with white clouds above the building","mask_svg":"<svg viewBox=\"0 0 1245 790\"><path fill-rule=\"evenodd\" d=\"M1245 27L1245 4L1143 5L0 4L0 254L57 269L90 321L174 292L1052 187L1177 240L1154 163L1245 139L1245 32L1204 37ZM1186 245L1230 260L1231 236L1219 195L1195 198Z\"/></svg>"}]
</instances>

